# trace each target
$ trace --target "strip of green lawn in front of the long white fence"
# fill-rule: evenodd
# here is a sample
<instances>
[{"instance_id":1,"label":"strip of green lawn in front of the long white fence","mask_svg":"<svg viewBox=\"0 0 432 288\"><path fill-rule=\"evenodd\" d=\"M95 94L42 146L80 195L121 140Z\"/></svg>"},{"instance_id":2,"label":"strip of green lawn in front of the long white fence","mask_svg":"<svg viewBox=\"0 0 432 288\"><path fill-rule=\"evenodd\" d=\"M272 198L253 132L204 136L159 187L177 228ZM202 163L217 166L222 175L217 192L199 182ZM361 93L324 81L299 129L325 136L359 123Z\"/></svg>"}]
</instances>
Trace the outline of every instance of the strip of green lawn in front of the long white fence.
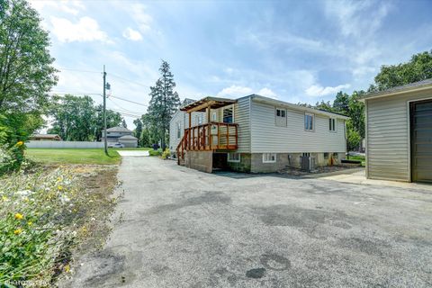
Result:
<instances>
[{"instance_id":1,"label":"strip of green lawn in front of the long white fence","mask_svg":"<svg viewBox=\"0 0 432 288\"><path fill-rule=\"evenodd\" d=\"M105 156L103 148L27 148L26 157L49 164L119 164L120 155L115 149Z\"/></svg>"}]
</instances>

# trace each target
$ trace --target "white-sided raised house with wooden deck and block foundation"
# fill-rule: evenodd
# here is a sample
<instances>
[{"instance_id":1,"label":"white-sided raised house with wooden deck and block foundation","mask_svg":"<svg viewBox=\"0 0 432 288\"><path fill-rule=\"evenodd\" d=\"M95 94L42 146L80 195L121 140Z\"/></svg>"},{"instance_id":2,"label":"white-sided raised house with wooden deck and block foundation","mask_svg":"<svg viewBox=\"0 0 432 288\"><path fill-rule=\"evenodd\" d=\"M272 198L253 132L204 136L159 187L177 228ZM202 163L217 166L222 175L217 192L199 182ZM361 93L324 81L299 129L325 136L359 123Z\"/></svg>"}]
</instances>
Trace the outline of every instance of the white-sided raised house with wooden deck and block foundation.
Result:
<instances>
[{"instance_id":1,"label":"white-sided raised house with wooden deck and block foundation","mask_svg":"<svg viewBox=\"0 0 432 288\"><path fill-rule=\"evenodd\" d=\"M275 172L286 166L300 167L302 156L325 166L338 164L346 155L348 118L340 114L257 94L237 100L207 97L181 110L192 127L184 122L178 162L202 171L229 167ZM193 122L193 112L205 113L202 125Z\"/></svg>"}]
</instances>

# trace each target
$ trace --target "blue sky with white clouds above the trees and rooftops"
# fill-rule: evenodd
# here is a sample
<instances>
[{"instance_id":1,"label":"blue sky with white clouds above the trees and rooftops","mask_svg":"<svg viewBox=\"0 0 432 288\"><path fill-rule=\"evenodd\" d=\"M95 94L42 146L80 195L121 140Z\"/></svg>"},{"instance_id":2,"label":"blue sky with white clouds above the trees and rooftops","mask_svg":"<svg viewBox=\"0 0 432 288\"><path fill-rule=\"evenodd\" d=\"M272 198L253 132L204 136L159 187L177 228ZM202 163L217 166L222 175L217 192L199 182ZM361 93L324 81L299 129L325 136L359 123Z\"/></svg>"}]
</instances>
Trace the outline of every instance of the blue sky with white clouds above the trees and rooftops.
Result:
<instances>
[{"instance_id":1,"label":"blue sky with white clouds above the trees and rooftops","mask_svg":"<svg viewBox=\"0 0 432 288\"><path fill-rule=\"evenodd\" d=\"M148 103L160 59L180 97L262 94L291 103L367 89L382 65L432 49L431 1L40 1L59 93ZM79 71L78 71L79 70ZM85 72L84 72L85 71ZM102 97L93 95L94 101ZM108 107L146 106L111 98ZM126 116L133 128L133 117Z\"/></svg>"}]
</instances>

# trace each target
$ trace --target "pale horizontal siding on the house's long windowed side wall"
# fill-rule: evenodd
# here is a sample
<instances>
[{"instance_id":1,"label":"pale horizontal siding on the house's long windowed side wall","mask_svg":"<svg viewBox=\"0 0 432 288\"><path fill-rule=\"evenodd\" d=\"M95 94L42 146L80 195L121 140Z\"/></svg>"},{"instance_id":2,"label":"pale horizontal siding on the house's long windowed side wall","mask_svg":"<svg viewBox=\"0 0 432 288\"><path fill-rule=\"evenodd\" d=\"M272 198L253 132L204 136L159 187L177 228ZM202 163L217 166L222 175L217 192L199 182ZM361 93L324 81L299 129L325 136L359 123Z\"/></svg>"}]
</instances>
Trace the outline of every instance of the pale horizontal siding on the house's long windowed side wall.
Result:
<instances>
[{"instance_id":1,"label":"pale horizontal siding on the house's long windowed side wall","mask_svg":"<svg viewBox=\"0 0 432 288\"><path fill-rule=\"evenodd\" d=\"M329 117L315 114L314 130L304 130L304 112L286 109L287 125L275 125L275 106L251 102L252 153L302 153L346 151L345 121L329 130Z\"/></svg>"}]
</instances>

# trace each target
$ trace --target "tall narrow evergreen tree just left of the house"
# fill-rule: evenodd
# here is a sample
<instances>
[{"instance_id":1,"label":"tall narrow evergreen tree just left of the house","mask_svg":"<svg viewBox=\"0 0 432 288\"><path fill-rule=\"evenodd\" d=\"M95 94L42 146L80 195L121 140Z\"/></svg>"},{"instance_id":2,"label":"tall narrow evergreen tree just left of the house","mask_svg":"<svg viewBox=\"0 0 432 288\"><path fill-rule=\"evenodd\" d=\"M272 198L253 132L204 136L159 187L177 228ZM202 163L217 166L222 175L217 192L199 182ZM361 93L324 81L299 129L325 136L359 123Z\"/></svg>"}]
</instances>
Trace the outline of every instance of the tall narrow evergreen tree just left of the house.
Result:
<instances>
[{"instance_id":1,"label":"tall narrow evergreen tree just left of the house","mask_svg":"<svg viewBox=\"0 0 432 288\"><path fill-rule=\"evenodd\" d=\"M174 76L170 71L168 62L162 60L159 68L160 78L156 84L150 87L150 104L148 114L153 125L157 128L157 134L163 149L166 148L166 135L168 135L169 121L180 105L180 98L174 91Z\"/></svg>"}]
</instances>

